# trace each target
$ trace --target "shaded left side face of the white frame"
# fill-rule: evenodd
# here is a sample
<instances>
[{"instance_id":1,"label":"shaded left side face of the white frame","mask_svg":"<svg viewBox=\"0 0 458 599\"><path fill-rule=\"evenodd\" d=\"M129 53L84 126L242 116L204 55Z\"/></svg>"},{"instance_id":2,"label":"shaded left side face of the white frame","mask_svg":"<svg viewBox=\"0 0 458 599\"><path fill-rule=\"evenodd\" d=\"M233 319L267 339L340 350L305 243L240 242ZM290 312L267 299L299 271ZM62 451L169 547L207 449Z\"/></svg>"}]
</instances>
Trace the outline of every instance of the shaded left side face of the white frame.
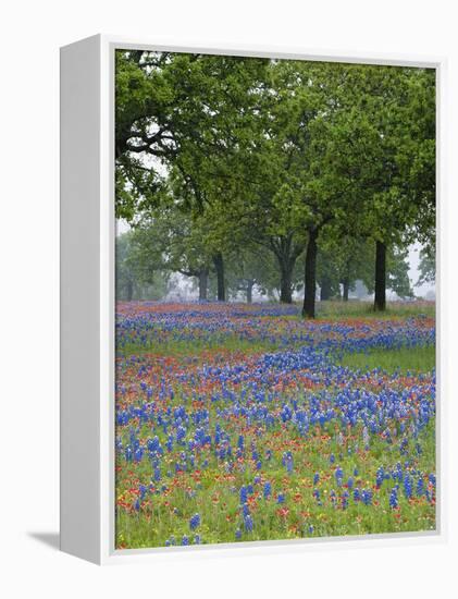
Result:
<instances>
[{"instance_id":1,"label":"shaded left side face of the white frame","mask_svg":"<svg viewBox=\"0 0 458 599\"><path fill-rule=\"evenodd\" d=\"M100 562L100 40L61 49L61 549Z\"/></svg>"}]
</instances>

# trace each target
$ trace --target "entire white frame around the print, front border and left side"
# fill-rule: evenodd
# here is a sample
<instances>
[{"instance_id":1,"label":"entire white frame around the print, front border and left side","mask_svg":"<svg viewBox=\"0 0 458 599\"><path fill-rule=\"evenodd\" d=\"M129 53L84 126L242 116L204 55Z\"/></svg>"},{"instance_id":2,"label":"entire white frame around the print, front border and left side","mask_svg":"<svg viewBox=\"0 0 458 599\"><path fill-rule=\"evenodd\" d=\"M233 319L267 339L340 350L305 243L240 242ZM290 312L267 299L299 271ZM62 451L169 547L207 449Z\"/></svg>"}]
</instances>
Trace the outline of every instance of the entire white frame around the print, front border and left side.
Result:
<instances>
[{"instance_id":1,"label":"entire white frame around the print, front border and left side","mask_svg":"<svg viewBox=\"0 0 458 599\"><path fill-rule=\"evenodd\" d=\"M176 46L169 40L97 35L61 48L61 550L98 564L202 555L399 547L446 541L445 265L446 59L346 53L224 44ZM168 50L260 58L424 66L436 70L437 113L437 381L436 530L366 537L261 541L195 548L114 547L114 51ZM82 241L84 243L82 244ZM108 402L107 402L108 400ZM84 438L82 437L82 432ZM191 550L189 550L191 549Z\"/></svg>"}]
</instances>

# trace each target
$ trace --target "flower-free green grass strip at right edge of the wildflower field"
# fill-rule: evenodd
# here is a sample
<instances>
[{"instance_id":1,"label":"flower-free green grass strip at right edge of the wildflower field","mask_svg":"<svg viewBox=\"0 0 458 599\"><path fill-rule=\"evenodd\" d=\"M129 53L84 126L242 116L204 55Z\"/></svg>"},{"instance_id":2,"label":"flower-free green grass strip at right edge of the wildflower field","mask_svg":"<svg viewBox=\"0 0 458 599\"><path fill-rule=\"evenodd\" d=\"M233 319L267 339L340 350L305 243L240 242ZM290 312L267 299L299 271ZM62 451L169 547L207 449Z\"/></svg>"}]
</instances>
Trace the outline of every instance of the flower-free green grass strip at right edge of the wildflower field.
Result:
<instances>
[{"instance_id":1,"label":"flower-free green grass strip at right edge of the wildflower field","mask_svg":"<svg viewBox=\"0 0 458 599\"><path fill-rule=\"evenodd\" d=\"M336 362L352 369L387 372L430 372L435 367L435 347L403 347L401 350L373 350L366 354L344 354Z\"/></svg>"}]
</instances>

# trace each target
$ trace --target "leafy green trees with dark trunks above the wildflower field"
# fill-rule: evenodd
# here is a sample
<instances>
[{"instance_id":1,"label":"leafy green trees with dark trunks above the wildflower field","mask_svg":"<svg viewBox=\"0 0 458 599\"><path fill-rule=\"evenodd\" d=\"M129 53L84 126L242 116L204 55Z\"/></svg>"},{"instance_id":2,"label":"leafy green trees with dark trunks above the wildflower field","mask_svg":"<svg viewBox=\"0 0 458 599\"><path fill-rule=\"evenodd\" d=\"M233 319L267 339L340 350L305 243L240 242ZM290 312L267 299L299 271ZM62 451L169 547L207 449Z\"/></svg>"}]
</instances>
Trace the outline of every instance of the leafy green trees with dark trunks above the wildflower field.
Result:
<instances>
[{"instance_id":1,"label":"leafy green trees with dark trunks above the wildflower field","mask_svg":"<svg viewBox=\"0 0 458 599\"><path fill-rule=\"evenodd\" d=\"M117 51L115 81L123 297L180 272L201 300L304 290L313 318L317 285L362 280L383 310L412 242L433 276L433 70Z\"/></svg>"}]
</instances>

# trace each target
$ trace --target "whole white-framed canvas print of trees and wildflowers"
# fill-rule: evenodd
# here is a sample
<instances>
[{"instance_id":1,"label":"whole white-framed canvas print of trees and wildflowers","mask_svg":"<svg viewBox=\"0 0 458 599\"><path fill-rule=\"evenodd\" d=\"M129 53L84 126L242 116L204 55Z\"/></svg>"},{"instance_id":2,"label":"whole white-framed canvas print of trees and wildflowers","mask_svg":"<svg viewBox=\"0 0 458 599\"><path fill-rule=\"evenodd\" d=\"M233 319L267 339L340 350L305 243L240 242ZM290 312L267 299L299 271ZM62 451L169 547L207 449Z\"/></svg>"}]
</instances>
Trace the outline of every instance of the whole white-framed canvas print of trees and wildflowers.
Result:
<instances>
[{"instance_id":1,"label":"whole white-framed canvas print of trees and wildflowers","mask_svg":"<svg viewBox=\"0 0 458 599\"><path fill-rule=\"evenodd\" d=\"M437 537L442 61L61 58L62 549Z\"/></svg>"}]
</instances>

